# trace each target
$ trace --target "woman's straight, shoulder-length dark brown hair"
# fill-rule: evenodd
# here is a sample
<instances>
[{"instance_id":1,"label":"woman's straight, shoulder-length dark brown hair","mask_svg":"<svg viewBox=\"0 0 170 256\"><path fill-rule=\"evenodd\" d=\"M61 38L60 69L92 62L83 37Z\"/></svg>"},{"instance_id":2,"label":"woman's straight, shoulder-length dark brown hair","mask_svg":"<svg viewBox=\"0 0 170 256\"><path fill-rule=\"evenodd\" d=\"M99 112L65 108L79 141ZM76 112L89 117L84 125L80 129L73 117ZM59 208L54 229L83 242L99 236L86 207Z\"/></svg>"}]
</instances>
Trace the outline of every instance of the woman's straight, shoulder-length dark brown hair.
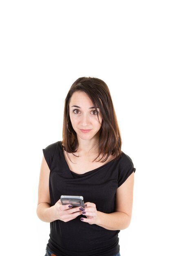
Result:
<instances>
[{"instance_id":1,"label":"woman's straight, shoulder-length dark brown hair","mask_svg":"<svg viewBox=\"0 0 170 256\"><path fill-rule=\"evenodd\" d=\"M75 130L73 130L69 116L70 99L73 93L77 91L85 92L93 102L96 112L98 106L102 113L103 120L99 130L99 155L93 161L95 161L101 155L102 158L104 155L106 155L104 160L101 161L106 162L110 154L115 155L114 159L118 159L121 155L121 136L119 126L117 124L117 117L113 107L113 101L106 83L95 77L80 77L73 83L73 85L71 85L71 88L68 91L64 105L62 132L62 146L64 150L66 150L68 153L75 153L79 146L77 134ZM99 161L101 159L99 159Z\"/></svg>"}]
</instances>

